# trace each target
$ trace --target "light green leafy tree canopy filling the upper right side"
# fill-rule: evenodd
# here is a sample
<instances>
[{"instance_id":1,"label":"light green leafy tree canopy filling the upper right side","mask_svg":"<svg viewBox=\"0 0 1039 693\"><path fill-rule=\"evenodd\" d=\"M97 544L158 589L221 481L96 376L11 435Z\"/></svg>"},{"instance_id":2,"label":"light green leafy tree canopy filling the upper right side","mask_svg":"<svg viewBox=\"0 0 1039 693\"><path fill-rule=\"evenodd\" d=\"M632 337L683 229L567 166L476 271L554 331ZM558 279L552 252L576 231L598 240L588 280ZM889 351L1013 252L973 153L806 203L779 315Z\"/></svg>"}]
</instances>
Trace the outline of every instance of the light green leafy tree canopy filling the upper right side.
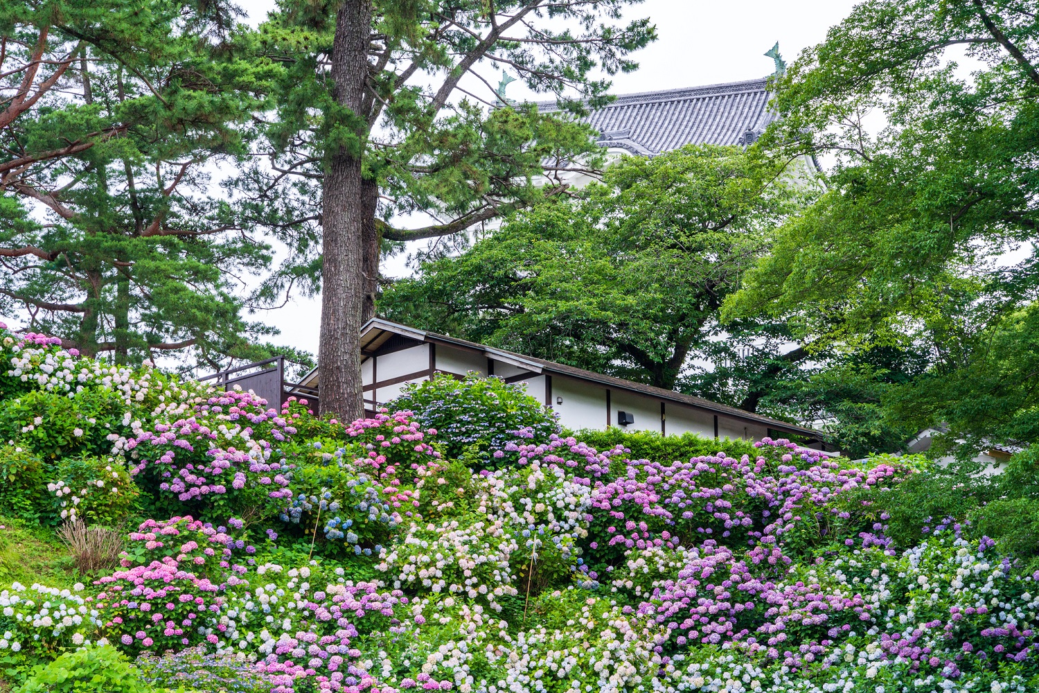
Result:
<instances>
[{"instance_id":1,"label":"light green leafy tree canopy filling the upper right side","mask_svg":"<svg viewBox=\"0 0 1039 693\"><path fill-rule=\"evenodd\" d=\"M886 396L890 417L945 425L964 451L1039 435L1037 12L872 0L791 65L764 144L828 155L828 191L725 305L787 316L817 345L923 356L926 374ZM965 75L952 47L980 68Z\"/></svg>"}]
</instances>

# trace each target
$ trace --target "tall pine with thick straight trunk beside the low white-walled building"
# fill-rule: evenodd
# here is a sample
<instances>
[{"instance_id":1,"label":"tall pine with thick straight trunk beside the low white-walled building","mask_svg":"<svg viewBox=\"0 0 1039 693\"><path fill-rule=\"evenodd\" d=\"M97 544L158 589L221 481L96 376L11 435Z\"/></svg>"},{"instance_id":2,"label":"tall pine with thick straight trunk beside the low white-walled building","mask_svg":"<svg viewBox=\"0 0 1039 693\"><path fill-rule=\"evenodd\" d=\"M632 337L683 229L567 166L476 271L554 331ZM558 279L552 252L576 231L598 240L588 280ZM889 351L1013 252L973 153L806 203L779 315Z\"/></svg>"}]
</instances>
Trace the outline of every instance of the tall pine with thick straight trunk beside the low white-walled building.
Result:
<instances>
[{"instance_id":1,"label":"tall pine with thick straight trunk beside the low white-walled building","mask_svg":"<svg viewBox=\"0 0 1039 693\"><path fill-rule=\"evenodd\" d=\"M647 20L618 24L635 1L285 0L261 26L256 54L283 71L278 111L270 166L239 184L243 208L297 250L270 294L316 289L320 266L322 410L363 412L358 332L382 241L457 234L560 194L553 169L593 154L587 128L507 103L494 70L570 110L601 104L609 82L592 71L634 70L629 54L655 38ZM414 211L438 222L387 222Z\"/></svg>"}]
</instances>

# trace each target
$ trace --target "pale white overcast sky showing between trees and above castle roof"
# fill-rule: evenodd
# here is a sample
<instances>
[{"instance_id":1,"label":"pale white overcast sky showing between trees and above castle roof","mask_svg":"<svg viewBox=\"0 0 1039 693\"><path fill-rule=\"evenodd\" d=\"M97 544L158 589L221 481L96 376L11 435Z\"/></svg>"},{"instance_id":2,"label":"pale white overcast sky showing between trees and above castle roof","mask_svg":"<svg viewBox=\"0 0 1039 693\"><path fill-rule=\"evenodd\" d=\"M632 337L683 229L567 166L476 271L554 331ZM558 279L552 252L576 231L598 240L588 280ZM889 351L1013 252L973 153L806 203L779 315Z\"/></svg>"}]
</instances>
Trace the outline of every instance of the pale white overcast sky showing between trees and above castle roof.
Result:
<instances>
[{"instance_id":1,"label":"pale white overcast sky showing between trees and above castle roof","mask_svg":"<svg viewBox=\"0 0 1039 693\"><path fill-rule=\"evenodd\" d=\"M262 21L274 5L268 0L240 4L250 24ZM854 5L851 0L646 0L631 6L625 19L650 18L659 37L635 54L639 70L616 75L611 90L654 91L765 77L774 70L765 56L773 44L778 41L783 58L792 62L804 48L822 42ZM531 96L520 82L509 85L510 98ZM390 276L408 272L403 256L391 258L382 270ZM294 297L283 309L249 318L278 327L282 334L271 340L275 344L317 353L320 296Z\"/></svg>"}]
</instances>

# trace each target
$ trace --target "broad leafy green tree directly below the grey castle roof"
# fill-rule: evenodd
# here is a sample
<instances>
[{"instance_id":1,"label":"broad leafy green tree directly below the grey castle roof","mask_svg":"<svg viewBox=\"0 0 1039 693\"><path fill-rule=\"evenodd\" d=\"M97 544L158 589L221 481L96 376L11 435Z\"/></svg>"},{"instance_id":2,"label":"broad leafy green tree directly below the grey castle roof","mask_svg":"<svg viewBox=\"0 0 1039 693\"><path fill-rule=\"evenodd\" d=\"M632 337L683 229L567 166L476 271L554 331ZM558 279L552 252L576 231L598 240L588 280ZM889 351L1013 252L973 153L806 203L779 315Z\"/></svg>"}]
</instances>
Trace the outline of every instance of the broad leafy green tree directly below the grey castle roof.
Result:
<instances>
[{"instance_id":1,"label":"broad leafy green tree directly below the grey castle roof","mask_svg":"<svg viewBox=\"0 0 1039 693\"><path fill-rule=\"evenodd\" d=\"M395 283L390 318L661 388L718 334L719 301L802 195L755 150L624 157Z\"/></svg>"}]
</instances>

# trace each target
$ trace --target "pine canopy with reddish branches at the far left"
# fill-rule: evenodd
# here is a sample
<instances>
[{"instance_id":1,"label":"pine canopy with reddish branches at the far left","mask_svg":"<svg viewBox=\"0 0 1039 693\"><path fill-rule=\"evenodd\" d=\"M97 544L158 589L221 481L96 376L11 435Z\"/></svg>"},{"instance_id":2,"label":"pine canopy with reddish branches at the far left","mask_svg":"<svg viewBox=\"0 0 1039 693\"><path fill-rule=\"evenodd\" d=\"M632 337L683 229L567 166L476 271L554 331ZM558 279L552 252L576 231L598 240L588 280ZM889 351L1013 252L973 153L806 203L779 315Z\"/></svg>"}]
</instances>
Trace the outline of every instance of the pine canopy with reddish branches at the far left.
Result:
<instances>
[{"instance_id":1,"label":"pine canopy with reddish branches at the far left","mask_svg":"<svg viewBox=\"0 0 1039 693\"><path fill-rule=\"evenodd\" d=\"M213 194L264 79L222 2L0 7L0 310L117 361L250 353L233 297L267 246ZM255 351L255 350L251 350Z\"/></svg>"}]
</instances>

